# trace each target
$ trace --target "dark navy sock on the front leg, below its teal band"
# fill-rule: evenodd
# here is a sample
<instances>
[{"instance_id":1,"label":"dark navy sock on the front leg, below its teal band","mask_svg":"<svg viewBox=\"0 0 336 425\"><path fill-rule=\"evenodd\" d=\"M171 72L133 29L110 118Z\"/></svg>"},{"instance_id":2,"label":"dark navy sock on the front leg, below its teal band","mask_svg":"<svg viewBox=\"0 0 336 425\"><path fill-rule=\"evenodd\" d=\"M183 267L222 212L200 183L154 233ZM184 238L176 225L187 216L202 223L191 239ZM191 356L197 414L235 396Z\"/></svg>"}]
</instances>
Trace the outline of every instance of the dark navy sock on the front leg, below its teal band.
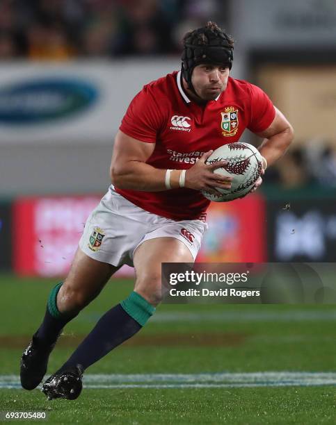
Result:
<instances>
[{"instance_id":1,"label":"dark navy sock on the front leg, below its teal band","mask_svg":"<svg viewBox=\"0 0 336 425\"><path fill-rule=\"evenodd\" d=\"M95 328L81 342L61 370L78 364L86 369L106 356L113 348L131 338L141 328L142 326L118 304L99 319Z\"/></svg>"}]
</instances>

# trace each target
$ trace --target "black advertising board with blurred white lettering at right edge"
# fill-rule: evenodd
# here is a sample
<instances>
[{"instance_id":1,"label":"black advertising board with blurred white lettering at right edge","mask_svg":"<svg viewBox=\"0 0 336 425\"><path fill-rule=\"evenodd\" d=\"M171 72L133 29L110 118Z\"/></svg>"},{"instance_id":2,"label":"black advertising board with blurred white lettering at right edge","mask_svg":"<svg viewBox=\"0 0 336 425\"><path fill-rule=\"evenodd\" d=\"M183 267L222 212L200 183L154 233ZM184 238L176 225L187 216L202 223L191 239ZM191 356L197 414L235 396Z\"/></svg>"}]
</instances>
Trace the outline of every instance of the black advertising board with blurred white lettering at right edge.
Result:
<instances>
[{"instance_id":1,"label":"black advertising board with blurred white lettering at right edge","mask_svg":"<svg viewBox=\"0 0 336 425\"><path fill-rule=\"evenodd\" d=\"M335 262L335 199L269 201L267 224L270 261Z\"/></svg>"}]
</instances>

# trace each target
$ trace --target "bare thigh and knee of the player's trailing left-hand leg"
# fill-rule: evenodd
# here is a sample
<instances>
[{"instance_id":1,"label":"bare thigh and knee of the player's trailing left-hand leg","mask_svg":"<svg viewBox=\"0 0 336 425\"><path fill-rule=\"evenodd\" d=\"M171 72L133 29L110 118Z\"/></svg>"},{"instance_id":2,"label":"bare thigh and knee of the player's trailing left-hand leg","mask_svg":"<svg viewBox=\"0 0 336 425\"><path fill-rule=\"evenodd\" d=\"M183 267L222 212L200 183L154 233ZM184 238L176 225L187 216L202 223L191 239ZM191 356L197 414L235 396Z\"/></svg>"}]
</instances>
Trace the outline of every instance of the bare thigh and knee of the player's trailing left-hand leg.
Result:
<instances>
[{"instance_id":1,"label":"bare thigh and knee of the player's trailing left-hand leg","mask_svg":"<svg viewBox=\"0 0 336 425\"><path fill-rule=\"evenodd\" d=\"M86 306L97 297L118 268L94 260L78 248L70 272L58 292L58 308L67 310L67 304L78 308Z\"/></svg>"}]
</instances>

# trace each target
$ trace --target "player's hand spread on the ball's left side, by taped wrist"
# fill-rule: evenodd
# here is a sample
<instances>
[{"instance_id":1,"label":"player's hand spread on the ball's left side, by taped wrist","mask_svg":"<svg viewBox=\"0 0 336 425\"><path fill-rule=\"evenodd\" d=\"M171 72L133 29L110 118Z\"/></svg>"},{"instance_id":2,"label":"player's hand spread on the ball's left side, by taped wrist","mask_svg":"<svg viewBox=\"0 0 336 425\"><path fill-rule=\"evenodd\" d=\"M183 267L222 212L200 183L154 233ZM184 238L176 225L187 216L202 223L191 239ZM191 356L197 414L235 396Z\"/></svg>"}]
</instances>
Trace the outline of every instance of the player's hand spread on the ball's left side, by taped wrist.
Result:
<instances>
[{"instance_id":1,"label":"player's hand spread on the ball's left side, by taped wrist","mask_svg":"<svg viewBox=\"0 0 336 425\"><path fill-rule=\"evenodd\" d=\"M200 159L186 171L185 187L195 190L206 190L209 193L221 195L216 188L230 189L232 177L215 174L214 170L227 165L227 161L218 161L206 164L207 159L213 151L203 153Z\"/></svg>"}]
</instances>

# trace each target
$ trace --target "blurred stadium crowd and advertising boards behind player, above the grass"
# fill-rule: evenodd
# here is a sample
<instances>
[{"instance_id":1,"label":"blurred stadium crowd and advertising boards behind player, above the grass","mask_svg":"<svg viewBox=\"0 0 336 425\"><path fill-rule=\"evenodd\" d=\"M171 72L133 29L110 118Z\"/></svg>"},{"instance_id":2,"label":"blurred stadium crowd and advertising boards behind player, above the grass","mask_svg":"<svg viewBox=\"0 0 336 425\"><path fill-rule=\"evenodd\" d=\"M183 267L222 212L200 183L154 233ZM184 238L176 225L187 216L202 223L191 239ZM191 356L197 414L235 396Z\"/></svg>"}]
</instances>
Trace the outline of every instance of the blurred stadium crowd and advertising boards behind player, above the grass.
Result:
<instances>
[{"instance_id":1,"label":"blurred stadium crowd and advertising boards behind player, above the grass","mask_svg":"<svg viewBox=\"0 0 336 425\"><path fill-rule=\"evenodd\" d=\"M258 196L211 206L200 258L335 260L334 1L1 0L0 269L65 274L129 101L179 69L179 40L207 19L296 137Z\"/></svg>"}]
</instances>

